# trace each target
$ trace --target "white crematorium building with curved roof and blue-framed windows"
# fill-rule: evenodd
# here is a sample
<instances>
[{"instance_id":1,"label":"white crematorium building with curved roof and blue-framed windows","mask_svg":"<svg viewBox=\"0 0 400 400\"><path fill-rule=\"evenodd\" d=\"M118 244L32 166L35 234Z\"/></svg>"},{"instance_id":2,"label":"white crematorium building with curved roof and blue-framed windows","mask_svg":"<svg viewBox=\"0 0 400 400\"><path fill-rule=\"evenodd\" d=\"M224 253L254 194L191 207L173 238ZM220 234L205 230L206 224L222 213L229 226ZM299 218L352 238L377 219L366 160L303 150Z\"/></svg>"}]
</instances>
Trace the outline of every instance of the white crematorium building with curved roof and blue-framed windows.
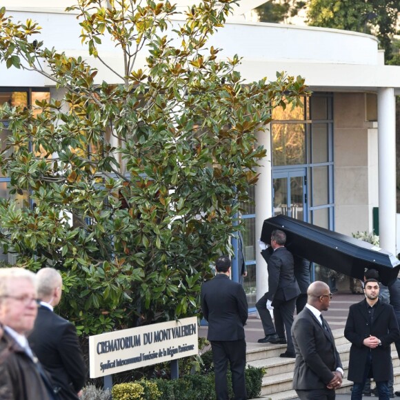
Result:
<instances>
[{"instance_id":1,"label":"white crematorium building with curved roof and blue-framed windows","mask_svg":"<svg viewBox=\"0 0 400 400\"><path fill-rule=\"evenodd\" d=\"M58 0L56 7L50 0L3 0L14 20L39 22L46 47L89 59L76 15L63 11L70 3ZM223 48L221 57L243 57L239 70L248 81L265 76L273 80L277 71L286 71L305 77L313 91L303 109L275 114L270 130L259 134L268 155L254 192L256 206L243 216L249 295L256 285L259 296L266 291L257 238L263 220L273 214L351 234L371 231L372 210L379 207L381 247L397 254L394 96L400 94L400 67L384 65L377 39L368 34L246 21L248 12L263 1L242 3L211 38L211 44ZM105 43L102 52L118 68L114 44ZM90 63L99 68L99 81L107 77L99 61ZM12 92L40 96L49 89L57 95L43 76L0 64L0 102L8 101ZM293 138L295 146L289 148ZM6 178L0 179L0 195L6 195ZM323 273L317 268L315 278L326 280ZM254 300L249 297L250 304Z\"/></svg>"}]
</instances>

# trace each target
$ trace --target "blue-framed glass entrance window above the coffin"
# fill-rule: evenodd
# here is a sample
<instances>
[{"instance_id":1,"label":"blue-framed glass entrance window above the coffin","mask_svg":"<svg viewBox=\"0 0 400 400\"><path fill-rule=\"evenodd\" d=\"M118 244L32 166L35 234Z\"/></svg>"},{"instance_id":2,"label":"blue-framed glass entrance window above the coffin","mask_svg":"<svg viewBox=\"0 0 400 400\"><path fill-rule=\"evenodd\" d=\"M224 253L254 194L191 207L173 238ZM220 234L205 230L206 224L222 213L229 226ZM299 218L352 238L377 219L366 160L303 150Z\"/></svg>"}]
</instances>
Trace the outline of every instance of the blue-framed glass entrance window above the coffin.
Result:
<instances>
[{"instance_id":1,"label":"blue-framed glass entrance window above the coffin","mask_svg":"<svg viewBox=\"0 0 400 400\"><path fill-rule=\"evenodd\" d=\"M274 110L271 123L274 214L288 214L330 230L334 229L332 100L330 93L313 93L303 99L303 108ZM328 282L328 272L316 265L314 279Z\"/></svg>"}]
</instances>

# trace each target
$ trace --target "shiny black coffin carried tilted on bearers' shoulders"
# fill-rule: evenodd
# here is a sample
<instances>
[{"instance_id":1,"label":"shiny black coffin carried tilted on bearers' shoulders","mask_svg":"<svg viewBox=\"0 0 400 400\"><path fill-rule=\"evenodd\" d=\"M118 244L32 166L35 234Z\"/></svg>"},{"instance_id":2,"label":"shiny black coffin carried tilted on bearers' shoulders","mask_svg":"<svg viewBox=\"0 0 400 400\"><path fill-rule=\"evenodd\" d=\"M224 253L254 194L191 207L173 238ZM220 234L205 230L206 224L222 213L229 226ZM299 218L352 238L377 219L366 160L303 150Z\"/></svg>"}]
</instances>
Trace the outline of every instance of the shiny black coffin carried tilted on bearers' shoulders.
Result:
<instances>
[{"instance_id":1,"label":"shiny black coffin carried tilted on bearers' shoulders","mask_svg":"<svg viewBox=\"0 0 400 400\"><path fill-rule=\"evenodd\" d=\"M375 268L379 271L382 283L388 285L399 273L400 261L397 257L366 241L286 215L277 215L264 221L261 241L270 244L274 229L286 233L286 247L292 254L350 277L363 279L366 268Z\"/></svg>"}]
</instances>

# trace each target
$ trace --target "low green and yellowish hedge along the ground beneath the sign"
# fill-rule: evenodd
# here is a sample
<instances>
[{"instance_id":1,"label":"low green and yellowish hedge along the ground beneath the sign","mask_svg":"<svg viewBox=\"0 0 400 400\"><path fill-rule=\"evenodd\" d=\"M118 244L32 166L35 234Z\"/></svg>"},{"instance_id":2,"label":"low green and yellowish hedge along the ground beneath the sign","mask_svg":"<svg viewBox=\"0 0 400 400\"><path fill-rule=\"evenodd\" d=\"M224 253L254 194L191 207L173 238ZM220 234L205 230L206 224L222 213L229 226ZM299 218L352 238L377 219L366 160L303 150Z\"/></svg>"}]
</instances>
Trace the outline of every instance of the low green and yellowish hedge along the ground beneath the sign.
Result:
<instances>
[{"instance_id":1,"label":"low green and yellowish hedge along the ground beneath the sign","mask_svg":"<svg viewBox=\"0 0 400 400\"><path fill-rule=\"evenodd\" d=\"M246 390L248 399L261 394L263 368L246 368ZM138 386L142 388L138 388ZM157 385L158 393L155 385ZM228 391L233 397L232 381L228 371ZM136 396L136 397L135 397ZM154 397L157 396L157 397ZM120 383L112 388L113 400L215 400L214 372L201 375L186 375L180 379L141 380L134 383Z\"/></svg>"}]
</instances>

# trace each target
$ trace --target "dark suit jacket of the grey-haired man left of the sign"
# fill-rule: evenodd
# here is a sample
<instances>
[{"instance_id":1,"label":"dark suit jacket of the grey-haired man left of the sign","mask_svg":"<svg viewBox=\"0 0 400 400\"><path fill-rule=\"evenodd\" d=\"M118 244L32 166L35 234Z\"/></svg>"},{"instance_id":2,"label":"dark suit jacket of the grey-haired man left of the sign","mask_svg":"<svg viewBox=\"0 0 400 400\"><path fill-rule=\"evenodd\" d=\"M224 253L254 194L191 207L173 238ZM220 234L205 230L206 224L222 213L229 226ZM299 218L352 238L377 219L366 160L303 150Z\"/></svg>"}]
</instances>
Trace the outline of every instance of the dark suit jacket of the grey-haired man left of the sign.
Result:
<instances>
[{"instance_id":1,"label":"dark suit jacket of the grey-haired man left of the sign","mask_svg":"<svg viewBox=\"0 0 400 400\"><path fill-rule=\"evenodd\" d=\"M72 323L40 306L28 341L55 386L60 388L60 399L79 399L77 392L85 383L86 366Z\"/></svg>"}]
</instances>

